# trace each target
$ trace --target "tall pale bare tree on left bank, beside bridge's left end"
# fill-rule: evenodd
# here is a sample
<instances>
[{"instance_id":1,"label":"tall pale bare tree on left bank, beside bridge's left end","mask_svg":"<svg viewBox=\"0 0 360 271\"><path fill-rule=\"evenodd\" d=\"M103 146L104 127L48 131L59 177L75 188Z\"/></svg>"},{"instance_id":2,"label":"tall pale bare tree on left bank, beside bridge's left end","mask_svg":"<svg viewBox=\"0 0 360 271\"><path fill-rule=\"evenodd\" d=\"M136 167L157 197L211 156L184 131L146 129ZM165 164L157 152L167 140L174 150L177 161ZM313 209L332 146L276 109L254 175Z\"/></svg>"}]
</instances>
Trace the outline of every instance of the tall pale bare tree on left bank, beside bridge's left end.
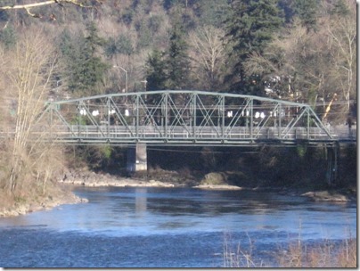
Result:
<instances>
[{"instance_id":1,"label":"tall pale bare tree on left bank, beside bridge's left end","mask_svg":"<svg viewBox=\"0 0 360 271\"><path fill-rule=\"evenodd\" d=\"M4 188L12 193L40 184L45 193L45 184L61 157L59 153L53 155L53 145L44 140L47 132L38 130L36 125L44 110L56 62L48 38L35 29L23 33L13 52L4 55L7 66L1 67L3 84L0 91L2 97L12 101L15 110L13 116L8 116L13 136L7 139L6 147L2 149L9 167ZM37 185L29 185L32 180Z\"/></svg>"}]
</instances>

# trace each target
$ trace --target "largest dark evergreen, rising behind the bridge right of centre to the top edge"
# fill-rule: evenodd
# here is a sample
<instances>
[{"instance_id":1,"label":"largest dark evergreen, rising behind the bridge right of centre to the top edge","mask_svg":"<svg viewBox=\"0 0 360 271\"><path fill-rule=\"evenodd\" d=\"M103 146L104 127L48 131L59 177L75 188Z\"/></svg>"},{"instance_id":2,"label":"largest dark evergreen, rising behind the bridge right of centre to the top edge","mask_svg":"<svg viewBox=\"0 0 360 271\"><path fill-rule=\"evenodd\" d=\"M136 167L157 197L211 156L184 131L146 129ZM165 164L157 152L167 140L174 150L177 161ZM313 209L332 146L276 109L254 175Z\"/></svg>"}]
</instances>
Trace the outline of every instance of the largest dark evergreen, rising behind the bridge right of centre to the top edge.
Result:
<instances>
[{"instance_id":1,"label":"largest dark evergreen, rising behind the bridge right of centre to the top edge","mask_svg":"<svg viewBox=\"0 0 360 271\"><path fill-rule=\"evenodd\" d=\"M229 39L229 56L233 63L231 88L241 93L258 94L261 87L259 75L245 76L243 63L250 53L262 53L272 41L274 33L282 26L282 13L277 0L241 0L233 2L232 14L226 21Z\"/></svg>"}]
</instances>

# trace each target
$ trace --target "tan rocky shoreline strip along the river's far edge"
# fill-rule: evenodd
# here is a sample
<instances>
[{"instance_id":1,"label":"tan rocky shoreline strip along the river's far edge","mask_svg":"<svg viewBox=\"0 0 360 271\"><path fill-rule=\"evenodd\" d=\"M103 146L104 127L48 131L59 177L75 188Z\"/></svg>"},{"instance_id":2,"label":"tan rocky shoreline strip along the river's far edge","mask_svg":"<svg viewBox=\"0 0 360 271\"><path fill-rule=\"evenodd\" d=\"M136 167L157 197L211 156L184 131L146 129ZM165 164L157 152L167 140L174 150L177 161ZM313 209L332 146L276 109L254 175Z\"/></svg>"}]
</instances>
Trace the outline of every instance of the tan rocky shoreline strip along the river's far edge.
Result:
<instances>
[{"instance_id":1,"label":"tan rocky shoreline strip along the river's far edge","mask_svg":"<svg viewBox=\"0 0 360 271\"><path fill-rule=\"evenodd\" d=\"M323 191L308 191L302 189L289 189L284 187L245 187L238 185L225 184L223 182L219 184L208 183L207 181L190 179L187 182L178 178L171 177L172 172L162 172L163 176L168 175L168 178L161 178L162 180L156 180L147 177L119 177L112 176L110 174L95 173L88 170L69 170L63 176L59 177L57 183L59 187L56 187L56 191L52 193L52 196L46 196L43 198L37 198L37 200L31 201L18 201L14 202L12 206L0 209L0 218L14 217L24 215L30 212L38 210L53 209L62 204L77 204L87 202L86 199L81 199L72 193L74 187L86 186L86 187L189 187L193 189L207 189L207 190L251 190L251 191L263 191L279 193L282 195L290 196L303 196L307 197L311 201L331 201L331 202L348 202L356 201L356 191L350 191L347 189L338 190L323 190ZM163 181L167 179L168 181ZM206 180L207 178L205 178ZM208 177L209 179L209 177Z\"/></svg>"}]
</instances>

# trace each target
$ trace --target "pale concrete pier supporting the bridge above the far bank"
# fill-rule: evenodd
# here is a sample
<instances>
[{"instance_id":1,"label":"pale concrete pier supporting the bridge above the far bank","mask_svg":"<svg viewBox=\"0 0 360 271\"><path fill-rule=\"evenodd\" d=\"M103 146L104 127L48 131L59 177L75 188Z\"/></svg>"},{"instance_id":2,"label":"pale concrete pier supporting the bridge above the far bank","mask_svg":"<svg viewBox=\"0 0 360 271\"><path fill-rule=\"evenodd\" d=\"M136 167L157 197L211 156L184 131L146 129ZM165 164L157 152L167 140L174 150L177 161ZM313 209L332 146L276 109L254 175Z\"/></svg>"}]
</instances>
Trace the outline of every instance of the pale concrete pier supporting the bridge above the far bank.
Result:
<instances>
[{"instance_id":1,"label":"pale concrete pier supporting the bridge above the far bank","mask_svg":"<svg viewBox=\"0 0 360 271\"><path fill-rule=\"evenodd\" d=\"M147 170L146 144L137 143L127 148L127 172Z\"/></svg>"}]
</instances>

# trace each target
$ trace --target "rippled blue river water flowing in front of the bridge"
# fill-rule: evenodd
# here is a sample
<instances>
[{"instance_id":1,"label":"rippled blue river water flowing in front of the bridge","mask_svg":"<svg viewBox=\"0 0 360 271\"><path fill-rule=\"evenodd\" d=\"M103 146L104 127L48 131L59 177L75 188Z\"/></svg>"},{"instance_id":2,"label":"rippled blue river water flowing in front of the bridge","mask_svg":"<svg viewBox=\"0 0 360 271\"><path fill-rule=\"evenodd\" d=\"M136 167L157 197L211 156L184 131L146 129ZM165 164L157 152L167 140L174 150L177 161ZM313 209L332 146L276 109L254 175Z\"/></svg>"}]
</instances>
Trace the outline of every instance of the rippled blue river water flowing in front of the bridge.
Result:
<instances>
[{"instance_id":1,"label":"rippled blue river water flowing in front of the bridge","mask_svg":"<svg viewBox=\"0 0 360 271\"><path fill-rule=\"evenodd\" d=\"M187 188L86 188L88 203L0 218L0 267L225 267L289 242L356 237L356 202Z\"/></svg>"}]
</instances>

